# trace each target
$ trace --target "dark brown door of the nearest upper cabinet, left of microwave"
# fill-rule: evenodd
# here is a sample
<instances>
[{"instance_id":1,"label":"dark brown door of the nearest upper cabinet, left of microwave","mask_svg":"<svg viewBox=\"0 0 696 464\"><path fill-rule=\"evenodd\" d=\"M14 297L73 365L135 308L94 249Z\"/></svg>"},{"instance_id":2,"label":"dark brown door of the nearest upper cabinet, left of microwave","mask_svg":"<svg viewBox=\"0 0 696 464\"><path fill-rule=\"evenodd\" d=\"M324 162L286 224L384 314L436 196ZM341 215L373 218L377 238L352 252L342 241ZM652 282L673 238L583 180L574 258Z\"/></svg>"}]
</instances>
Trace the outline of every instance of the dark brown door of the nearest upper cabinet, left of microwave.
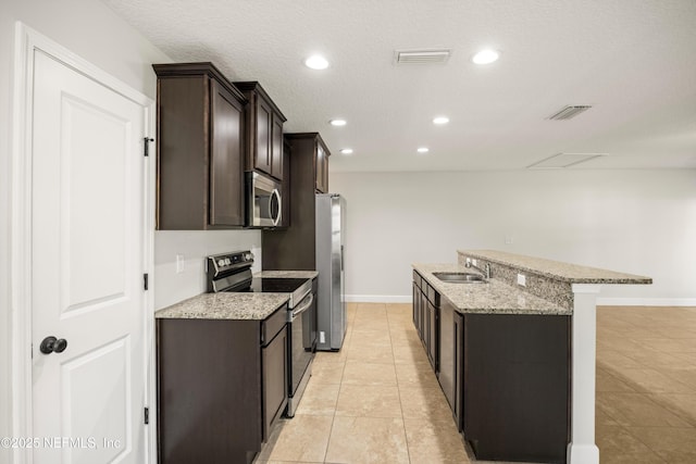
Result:
<instances>
[{"instance_id":1,"label":"dark brown door of the nearest upper cabinet, left of microwave","mask_svg":"<svg viewBox=\"0 0 696 464\"><path fill-rule=\"evenodd\" d=\"M211 80L209 222L213 226L244 226L243 110L229 91Z\"/></svg>"}]
</instances>

